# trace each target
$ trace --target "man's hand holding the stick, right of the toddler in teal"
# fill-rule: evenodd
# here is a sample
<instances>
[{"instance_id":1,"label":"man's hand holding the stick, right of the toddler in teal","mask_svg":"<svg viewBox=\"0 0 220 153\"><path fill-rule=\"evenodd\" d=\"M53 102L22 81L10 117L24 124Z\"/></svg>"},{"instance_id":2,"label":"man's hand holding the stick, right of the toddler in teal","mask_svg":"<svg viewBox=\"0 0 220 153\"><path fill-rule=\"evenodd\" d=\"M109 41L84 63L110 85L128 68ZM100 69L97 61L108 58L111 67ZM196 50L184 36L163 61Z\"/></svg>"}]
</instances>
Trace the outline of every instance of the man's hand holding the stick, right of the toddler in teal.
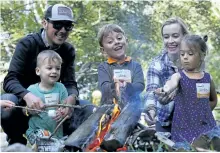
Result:
<instances>
[{"instance_id":1,"label":"man's hand holding the stick, right of the toddler in teal","mask_svg":"<svg viewBox=\"0 0 220 153\"><path fill-rule=\"evenodd\" d=\"M67 105L75 105L76 104L76 98L72 95L68 96L65 100L64 100L64 104ZM63 117L65 117L66 115L71 116L73 113L74 109L73 108L69 108L69 107L62 107L60 109L60 112L62 114Z\"/></svg>"}]
</instances>

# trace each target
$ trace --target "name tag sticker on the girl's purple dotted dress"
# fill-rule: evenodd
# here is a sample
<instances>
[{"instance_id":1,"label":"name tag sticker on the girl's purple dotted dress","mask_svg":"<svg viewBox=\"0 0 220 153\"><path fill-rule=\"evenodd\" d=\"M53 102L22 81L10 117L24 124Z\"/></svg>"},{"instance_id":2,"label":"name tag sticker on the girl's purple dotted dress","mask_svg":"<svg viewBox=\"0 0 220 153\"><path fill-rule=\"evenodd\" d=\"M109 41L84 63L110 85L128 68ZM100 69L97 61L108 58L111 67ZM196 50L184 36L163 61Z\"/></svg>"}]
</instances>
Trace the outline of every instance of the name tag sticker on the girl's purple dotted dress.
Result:
<instances>
[{"instance_id":1,"label":"name tag sticker on the girl's purple dotted dress","mask_svg":"<svg viewBox=\"0 0 220 153\"><path fill-rule=\"evenodd\" d=\"M196 83L197 98L209 98L210 83Z\"/></svg>"}]
</instances>

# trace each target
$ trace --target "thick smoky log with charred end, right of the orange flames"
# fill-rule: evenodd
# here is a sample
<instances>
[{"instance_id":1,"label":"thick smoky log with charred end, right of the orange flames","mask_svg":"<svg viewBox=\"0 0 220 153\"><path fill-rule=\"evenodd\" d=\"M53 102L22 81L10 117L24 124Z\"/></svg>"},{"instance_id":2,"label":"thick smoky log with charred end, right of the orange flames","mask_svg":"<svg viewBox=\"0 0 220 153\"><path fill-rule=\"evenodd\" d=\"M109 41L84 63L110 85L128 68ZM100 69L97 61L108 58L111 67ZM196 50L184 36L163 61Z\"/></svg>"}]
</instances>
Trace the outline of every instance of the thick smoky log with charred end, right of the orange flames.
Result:
<instances>
[{"instance_id":1,"label":"thick smoky log with charred end, right of the orange flames","mask_svg":"<svg viewBox=\"0 0 220 153\"><path fill-rule=\"evenodd\" d=\"M137 125L140 114L141 110L135 103L127 104L111 125L111 129L105 135L100 147L106 151L116 151L118 148L122 148L127 137Z\"/></svg>"}]
</instances>

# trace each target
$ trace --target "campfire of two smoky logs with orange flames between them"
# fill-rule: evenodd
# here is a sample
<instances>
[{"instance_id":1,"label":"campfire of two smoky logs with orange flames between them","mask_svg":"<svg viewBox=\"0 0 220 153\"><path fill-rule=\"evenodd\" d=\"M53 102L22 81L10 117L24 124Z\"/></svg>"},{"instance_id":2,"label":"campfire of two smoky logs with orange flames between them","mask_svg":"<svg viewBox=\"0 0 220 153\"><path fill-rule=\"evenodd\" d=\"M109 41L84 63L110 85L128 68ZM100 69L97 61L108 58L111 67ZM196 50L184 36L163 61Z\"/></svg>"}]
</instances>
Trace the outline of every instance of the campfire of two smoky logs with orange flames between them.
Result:
<instances>
[{"instance_id":1,"label":"campfire of two smoky logs with orange flames between them","mask_svg":"<svg viewBox=\"0 0 220 153\"><path fill-rule=\"evenodd\" d=\"M116 87L117 83L116 83ZM116 151L123 148L140 118L139 104L132 102L120 111L121 94L116 88L117 97L113 105L103 105L83 122L65 141L66 148L72 151ZM116 101L117 99L117 101ZM121 112L121 113L120 113ZM126 149L126 147L124 147ZM124 148L122 150L124 150Z\"/></svg>"}]
</instances>

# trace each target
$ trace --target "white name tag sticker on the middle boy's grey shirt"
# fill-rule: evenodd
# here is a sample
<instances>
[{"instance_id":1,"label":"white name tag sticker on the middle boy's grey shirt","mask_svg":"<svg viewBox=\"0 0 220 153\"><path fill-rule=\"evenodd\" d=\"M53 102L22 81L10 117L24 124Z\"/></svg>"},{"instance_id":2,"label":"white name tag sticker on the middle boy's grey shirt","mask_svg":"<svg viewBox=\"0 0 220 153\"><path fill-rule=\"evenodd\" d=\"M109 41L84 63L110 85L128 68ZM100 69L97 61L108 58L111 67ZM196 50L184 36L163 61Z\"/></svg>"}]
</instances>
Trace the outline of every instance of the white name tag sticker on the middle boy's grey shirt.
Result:
<instances>
[{"instance_id":1,"label":"white name tag sticker on the middle boy's grey shirt","mask_svg":"<svg viewBox=\"0 0 220 153\"><path fill-rule=\"evenodd\" d=\"M131 71L127 69L115 69L114 79L124 80L126 82L131 82Z\"/></svg>"}]
</instances>

